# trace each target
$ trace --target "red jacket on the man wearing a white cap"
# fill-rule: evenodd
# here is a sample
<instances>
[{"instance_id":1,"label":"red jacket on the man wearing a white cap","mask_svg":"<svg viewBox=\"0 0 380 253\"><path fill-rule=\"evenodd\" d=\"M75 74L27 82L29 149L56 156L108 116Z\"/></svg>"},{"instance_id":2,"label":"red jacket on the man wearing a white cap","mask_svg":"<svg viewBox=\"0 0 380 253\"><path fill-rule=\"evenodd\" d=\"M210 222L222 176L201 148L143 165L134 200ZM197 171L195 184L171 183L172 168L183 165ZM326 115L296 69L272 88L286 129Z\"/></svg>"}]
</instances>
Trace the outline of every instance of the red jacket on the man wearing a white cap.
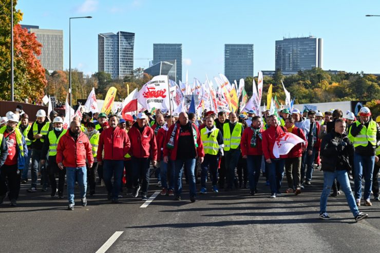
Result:
<instances>
[{"instance_id":1,"label":"red jacket on the man wearing a white cap","mask_svg":"<svg viewBox=\"0 0 380 253\"><path fill-rule=\"evenodd\" d=\"M149 126L145 126L142 133L139 130L139 124L136 122L128 131L131 148L129 154L136 158L150 157L157 161L157 142L155 131Z\"/></svg>"}]
</instances>

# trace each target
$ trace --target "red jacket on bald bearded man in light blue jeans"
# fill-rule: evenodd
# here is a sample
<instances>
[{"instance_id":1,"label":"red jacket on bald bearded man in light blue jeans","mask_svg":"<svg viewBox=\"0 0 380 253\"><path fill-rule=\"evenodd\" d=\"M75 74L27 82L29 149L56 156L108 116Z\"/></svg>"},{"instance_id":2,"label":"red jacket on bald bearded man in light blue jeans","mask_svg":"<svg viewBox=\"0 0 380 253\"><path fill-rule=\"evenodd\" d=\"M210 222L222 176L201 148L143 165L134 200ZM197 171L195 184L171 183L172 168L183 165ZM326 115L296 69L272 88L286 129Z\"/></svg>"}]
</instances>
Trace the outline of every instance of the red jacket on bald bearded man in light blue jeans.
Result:
<instances>
[{"instance_id":1,"label":"red jacket on bald bearded man in light blue jeans","mask_svg":"<svg viewBox=\"0 0 380 253\"><path fill-rule=\"evenodd\" d=\"M69 130L61 137L56 148L56 163L63 163L65 167L82 167L88 163L93 163L91 144L86 134L81 132L74 141L69 134Z\"/></svg>"}]
</instances>

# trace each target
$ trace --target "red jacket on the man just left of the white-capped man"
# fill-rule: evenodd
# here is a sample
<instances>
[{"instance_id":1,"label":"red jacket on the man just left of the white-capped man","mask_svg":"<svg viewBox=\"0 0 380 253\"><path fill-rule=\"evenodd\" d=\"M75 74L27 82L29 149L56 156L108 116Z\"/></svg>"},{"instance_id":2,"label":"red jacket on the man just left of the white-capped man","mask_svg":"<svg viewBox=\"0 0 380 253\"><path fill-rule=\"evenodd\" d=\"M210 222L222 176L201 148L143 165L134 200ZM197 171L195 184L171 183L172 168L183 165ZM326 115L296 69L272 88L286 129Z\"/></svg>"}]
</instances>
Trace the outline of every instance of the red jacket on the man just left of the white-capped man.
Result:
<instances>
[{"instance_id":1,"label":"red jacket on the man just left of the white-capped man","mask_svg":"<svg viewBox=\"0 0 380 253\"><path fill-rule=\"evenodd\" d=\"M97 154L98 162L102 162L103 160L124 160L124 156L128 153L129 148L130 141L124 129L120 129L119 127L107 128L100 134Z\"/></svg>"}]
</instances>

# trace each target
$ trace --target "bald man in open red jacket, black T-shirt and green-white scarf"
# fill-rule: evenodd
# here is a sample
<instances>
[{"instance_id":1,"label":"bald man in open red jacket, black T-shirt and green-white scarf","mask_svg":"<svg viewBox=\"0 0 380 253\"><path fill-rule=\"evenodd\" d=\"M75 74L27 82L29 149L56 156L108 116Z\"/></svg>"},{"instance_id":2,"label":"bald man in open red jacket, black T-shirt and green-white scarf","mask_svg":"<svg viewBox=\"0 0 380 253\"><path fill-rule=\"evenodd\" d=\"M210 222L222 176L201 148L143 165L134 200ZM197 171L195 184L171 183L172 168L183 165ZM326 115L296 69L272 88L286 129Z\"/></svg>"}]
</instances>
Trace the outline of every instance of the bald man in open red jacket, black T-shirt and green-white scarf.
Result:
<instances>
[{"instance_id":1,"label":"bald man in open red jacket, black T-shirt and green-white scarf","mask_svg":"<svg viewBox=\"0 0 380 253\"><path fill-rule=\"evenodd\" d=\"M198 128L188 121L186 112L181 112L178 122L167 131L164 143L164 162L172 162L175 171L175 198L181 200L182 191L182 167L187 167L190 200L195 202L195 164L198 157L199 163L203 162L204 151Z\"/></svg>"}]
</instances>

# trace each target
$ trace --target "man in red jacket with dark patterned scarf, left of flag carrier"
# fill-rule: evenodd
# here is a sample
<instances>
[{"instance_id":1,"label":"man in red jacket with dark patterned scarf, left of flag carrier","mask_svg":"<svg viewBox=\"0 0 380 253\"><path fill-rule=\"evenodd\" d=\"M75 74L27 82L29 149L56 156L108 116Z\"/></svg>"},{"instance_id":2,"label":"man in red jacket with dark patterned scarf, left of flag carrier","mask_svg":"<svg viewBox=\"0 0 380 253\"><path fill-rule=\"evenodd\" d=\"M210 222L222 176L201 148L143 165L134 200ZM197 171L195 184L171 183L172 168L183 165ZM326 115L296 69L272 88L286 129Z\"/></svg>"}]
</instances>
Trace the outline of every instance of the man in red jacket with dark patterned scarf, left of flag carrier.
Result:
<instances>
[{"instance_id":1,"label":"man in red jacket with dark patterned scarf, left of flag carrier","mask_svg":"<svg viewBox=\"0 0 380 253\"><path fill-rule=\"evenodd\" d=\"M257 192L257 182L260 177L260 168L262 161L262 127L260 116L252 118L252 124L243 131L240 140L240 149L243 159L246 159L248 169L248 179L250 183L250 194L252 196Z\"/></svg>"}]
</instances>

